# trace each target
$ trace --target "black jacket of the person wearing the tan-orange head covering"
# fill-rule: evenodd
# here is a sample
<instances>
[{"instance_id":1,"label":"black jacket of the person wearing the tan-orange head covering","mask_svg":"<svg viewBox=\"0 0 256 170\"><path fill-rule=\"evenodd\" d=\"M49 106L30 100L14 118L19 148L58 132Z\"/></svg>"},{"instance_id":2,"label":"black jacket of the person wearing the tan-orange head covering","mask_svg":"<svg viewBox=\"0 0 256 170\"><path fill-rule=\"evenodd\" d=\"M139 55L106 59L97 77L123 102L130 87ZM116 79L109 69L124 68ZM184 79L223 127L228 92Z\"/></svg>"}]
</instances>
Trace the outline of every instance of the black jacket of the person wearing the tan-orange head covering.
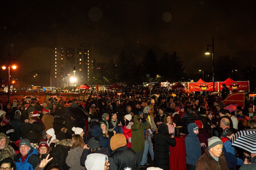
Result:
<instances>
[{"instance_id":1,"label":"black jacket of the person wearing the tan-orange head covering","mask_svg":"<svg viewBox=\"0 0 256 170\"><path fill-rule=\"evenodd\" d=\"M123 170L125 167L131 167L133 170L139 169L136 153L126 146L113 150L109 163L110 170Z\"/></svg>"}]
</instances>

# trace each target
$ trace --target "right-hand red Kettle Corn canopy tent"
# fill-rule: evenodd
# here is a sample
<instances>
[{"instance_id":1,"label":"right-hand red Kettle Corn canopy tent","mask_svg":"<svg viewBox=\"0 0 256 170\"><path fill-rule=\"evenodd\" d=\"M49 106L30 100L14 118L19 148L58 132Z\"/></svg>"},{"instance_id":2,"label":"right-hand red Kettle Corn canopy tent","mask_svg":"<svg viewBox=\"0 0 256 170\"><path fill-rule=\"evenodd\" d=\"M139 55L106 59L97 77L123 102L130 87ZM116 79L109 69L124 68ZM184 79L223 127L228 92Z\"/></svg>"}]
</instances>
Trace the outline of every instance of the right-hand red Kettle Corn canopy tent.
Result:
<instances>
[{"instance_id":1,"label":"right-hand red Kettle Corn canopy tent","mask_svg":"<svg viewBox=\"0 0 256 170\"><path fill-rule=\"evenodd\" d=\"M249 90L249 81L234 81L228 78L224 82L219 82L219 90L222 90L222 84L226 84L228 90L239 91L239 90Z\"/></svg>"}]
</instances>

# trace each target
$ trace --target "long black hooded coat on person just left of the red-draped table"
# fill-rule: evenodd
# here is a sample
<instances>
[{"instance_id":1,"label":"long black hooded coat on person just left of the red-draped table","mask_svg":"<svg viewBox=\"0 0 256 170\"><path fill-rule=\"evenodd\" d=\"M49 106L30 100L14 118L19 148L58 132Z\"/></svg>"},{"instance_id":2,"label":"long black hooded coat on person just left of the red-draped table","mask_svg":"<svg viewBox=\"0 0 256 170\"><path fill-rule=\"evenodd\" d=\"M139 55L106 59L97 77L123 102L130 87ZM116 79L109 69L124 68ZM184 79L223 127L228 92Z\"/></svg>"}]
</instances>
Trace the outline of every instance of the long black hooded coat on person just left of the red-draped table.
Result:
<instances>
[{"instance_id":1,"label":"long black hooded coat on person just left of the red-draped table","mask_svg":"<svg viewBox=\"0 0 256 170\"><path fill-rule=\"evenodd\" d=\"M169 170L169 145L174 147L176 140L168 135L168 126L165 123L159 125L158 133L154 135L154 139L154 167Z\"/></svg>"}]
</instances>

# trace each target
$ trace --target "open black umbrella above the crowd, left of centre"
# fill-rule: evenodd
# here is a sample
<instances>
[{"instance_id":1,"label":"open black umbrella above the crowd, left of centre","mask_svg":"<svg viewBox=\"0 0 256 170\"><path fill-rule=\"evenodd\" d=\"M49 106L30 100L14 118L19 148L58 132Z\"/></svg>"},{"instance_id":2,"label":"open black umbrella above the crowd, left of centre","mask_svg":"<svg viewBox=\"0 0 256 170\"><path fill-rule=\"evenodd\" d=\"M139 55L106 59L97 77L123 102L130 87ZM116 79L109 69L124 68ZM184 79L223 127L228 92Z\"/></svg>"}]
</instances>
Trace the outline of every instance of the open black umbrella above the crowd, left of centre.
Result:
<instances>
[{"instance_id":1,"label":"open black umbrella above the crowd, left of centre","mask_svg":"<svg viewBox=\"0 0 256 170\"><path fill-rule=\"evenodd\" d=\"M53 113L57 116L86 116L86 113L78 107L64 107Z\"/></svg>"}]
</instances>

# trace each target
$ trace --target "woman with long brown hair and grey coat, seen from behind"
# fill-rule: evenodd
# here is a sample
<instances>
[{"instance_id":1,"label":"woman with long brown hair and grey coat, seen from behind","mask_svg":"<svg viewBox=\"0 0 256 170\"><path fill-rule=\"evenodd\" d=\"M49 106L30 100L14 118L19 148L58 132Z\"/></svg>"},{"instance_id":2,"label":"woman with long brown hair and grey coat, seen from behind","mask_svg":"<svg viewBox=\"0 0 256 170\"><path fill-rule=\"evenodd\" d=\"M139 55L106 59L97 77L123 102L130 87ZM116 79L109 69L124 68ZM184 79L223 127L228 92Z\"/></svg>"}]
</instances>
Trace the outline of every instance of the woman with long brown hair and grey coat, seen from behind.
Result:
<instances>
[{"instance_id":1,"label":"woman with long brown hair and grey coat, seen from behind","mask_svg":"<svg viewBox=\"0 0 256 170\"><path fill-rule=\"evenodd\" d=\"M66 158L66 163L70 167L69 170L84 170L84 167L80 165L84 145L83 138L80 135L77 134L72 137L71 150Z\"/></svg>"}]
</instances>

